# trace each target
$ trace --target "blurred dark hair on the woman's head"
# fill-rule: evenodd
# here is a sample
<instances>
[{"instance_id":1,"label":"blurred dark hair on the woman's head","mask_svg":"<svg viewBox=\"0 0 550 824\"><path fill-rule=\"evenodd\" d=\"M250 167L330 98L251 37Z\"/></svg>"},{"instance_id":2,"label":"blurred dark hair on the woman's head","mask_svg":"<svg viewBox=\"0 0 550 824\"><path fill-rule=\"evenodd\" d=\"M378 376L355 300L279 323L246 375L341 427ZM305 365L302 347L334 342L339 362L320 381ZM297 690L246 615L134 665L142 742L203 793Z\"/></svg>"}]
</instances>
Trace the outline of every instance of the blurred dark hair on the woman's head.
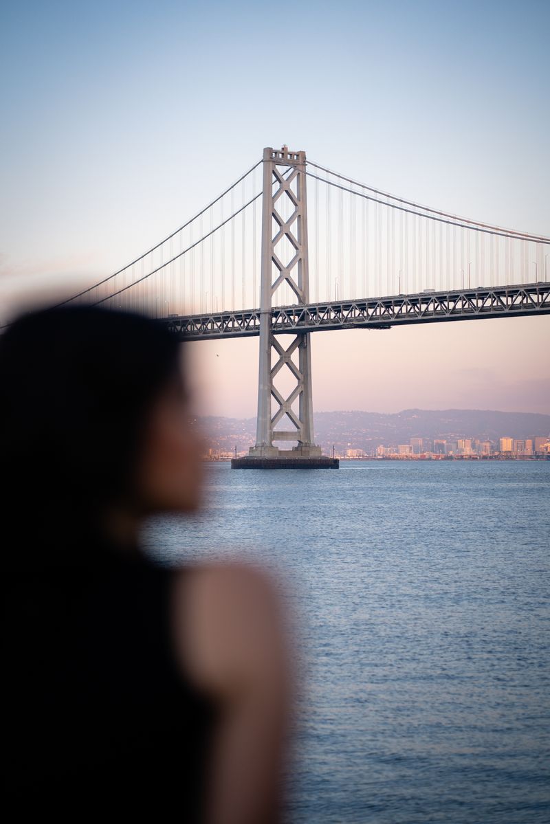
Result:
<instances>
[{"instance_id":1,"label":"blurred dark hair on the woman's head","mask_svg":"<svg viewBox=\"0 0 550 824\"><path fill-rule=\"evenodd\" d=\"M3 529L63 542L131 494L148 411L178 355L166 326L129 312L58 307L14 321L0 337Z\"/></svg>"}]
</instances>

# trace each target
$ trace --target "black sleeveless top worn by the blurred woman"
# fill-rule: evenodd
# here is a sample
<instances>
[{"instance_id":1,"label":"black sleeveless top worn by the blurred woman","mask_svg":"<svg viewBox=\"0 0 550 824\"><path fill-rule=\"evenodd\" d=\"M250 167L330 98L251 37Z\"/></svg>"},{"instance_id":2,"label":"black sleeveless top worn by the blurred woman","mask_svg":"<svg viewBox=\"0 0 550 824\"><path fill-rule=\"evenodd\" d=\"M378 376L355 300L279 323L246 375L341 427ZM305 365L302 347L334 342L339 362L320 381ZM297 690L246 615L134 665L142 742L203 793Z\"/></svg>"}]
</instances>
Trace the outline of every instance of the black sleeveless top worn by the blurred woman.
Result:
<instances>
[{"instance_id":1,"label":"black sleeveless top worn by the blurred woman","mask_svg":"<svg viewBox=\"0 0 550 824\"><path fill-rule=\"evenodd\" d=\"M174 574L105 546L80 558L4 574L4 798L199 822L214 708L176 667Z\"/></svg>"}]
</instances>

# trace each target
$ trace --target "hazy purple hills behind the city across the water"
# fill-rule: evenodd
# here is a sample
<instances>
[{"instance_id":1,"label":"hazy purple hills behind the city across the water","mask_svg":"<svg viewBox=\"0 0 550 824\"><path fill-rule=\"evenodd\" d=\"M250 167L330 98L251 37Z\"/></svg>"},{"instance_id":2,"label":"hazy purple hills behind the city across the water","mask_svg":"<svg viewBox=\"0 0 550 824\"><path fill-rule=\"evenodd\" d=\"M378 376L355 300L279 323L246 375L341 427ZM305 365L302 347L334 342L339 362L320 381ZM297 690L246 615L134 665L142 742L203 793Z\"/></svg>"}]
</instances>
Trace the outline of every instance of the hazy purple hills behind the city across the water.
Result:
<instances>
[{"instance_id":1,"label":"hazy purple hills behind the city across the water","mask_svg":"<svg viewBox=\"0 0 550 824\"><path fill-rule=\"evenodd\" d=\"M316 412L315 440L325 448L348 444L368 449L379 443L397 446L409 438L534 438L550 436L550 415L494 410L403 410L395 414L341 411ZM229 450L246 449L256 439L256 419L204 418L209 443Z\"/></svg>"}]
</instances>

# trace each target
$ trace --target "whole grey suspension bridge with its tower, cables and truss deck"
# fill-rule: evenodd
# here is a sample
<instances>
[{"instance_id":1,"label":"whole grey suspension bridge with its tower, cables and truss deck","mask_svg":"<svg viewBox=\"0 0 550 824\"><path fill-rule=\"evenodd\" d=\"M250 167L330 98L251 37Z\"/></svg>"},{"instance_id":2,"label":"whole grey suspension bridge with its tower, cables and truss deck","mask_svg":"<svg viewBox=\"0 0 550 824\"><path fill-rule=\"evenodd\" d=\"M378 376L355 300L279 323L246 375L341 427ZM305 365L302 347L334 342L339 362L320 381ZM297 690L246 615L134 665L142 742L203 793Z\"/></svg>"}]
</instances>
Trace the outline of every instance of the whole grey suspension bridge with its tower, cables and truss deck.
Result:
<instances>
[{"instance_id":1,"label":"whole grey suspension bridge with its tower, cables and truss deck","mask_svg":"<svg viewBox=\"0 0 550 824\"><path fill-rule=\"evenodd\" d=\"M256 445L233 466L337 466L314 442L313 332L548 314L549 257L550 237L268 147L181 227L65 302L148 312L186 340L259 336Z\"/></svg>"}]
</instances>

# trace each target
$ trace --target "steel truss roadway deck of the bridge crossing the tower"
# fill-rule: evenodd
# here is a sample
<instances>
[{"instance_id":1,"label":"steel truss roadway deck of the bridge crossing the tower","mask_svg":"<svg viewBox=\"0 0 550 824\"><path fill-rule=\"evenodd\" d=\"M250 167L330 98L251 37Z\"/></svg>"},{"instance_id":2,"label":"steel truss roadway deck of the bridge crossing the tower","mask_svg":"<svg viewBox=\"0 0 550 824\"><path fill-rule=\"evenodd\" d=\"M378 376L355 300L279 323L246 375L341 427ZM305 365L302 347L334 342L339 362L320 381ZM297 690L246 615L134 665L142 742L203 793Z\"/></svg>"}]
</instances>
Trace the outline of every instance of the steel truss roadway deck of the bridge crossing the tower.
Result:
<instances>
[{"instance_id":1,"label":"steel truss roadway deck of the bridge crossing the tower","mask_svg":"<svg viewBox=\"0 0 550 824\"><path fill-rule=\"evenodd\" d=\"M271 311L275 335L336 329L389 329L391 326L436 321L468 321L485 317L550 314L550 283L449 292L372 297L353 301L294 304ZM222 311L163 318L182 339L243 338L260 334L260 310Z\"/></svg>"}]
</instances>

